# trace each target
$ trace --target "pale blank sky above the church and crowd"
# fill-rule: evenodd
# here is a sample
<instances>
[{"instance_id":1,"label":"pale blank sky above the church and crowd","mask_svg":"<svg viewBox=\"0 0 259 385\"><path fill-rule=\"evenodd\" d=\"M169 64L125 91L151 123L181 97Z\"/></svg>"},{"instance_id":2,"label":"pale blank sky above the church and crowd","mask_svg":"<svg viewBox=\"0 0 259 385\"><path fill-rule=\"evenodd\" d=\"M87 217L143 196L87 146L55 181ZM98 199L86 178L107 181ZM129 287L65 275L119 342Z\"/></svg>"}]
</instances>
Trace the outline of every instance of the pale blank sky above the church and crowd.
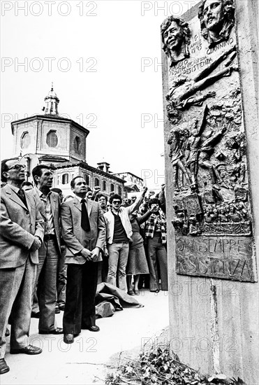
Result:
<instances>
[{"instance_id":1,"label":"pale blank sky above the church and crowd","mask_svg":"<svg viewBox=\"0 0 259 385\"><path fill-rule=\"evenodd\" d=\"M41 111L87 127L87 163L158 188L164 179L160 25L196 0L1 1L1 159L10 122Z\"/></svg>"}]
</instances>

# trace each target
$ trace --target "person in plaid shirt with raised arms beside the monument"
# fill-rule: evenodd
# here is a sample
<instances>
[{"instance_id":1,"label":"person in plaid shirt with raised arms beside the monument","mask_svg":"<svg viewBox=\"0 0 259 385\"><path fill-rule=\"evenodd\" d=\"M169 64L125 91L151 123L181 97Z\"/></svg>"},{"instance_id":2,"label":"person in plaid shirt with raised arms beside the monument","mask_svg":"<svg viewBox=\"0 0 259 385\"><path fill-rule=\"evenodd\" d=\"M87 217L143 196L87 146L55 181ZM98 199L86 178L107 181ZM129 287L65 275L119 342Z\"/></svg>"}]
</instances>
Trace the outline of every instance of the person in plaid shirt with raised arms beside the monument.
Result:
<instances>
[{"instance_id":1,"label":"person in plaid shirt with raised arms beside the monument","mask_svg":"<svg viewBox=\"0 0 259 385\"><path fill-rule=\"evenodd\" d=\"M159 276L158 265L161 275L161 289L168 290L168 258L165 248L166 244L166 219L161 210L158 198L148 202L149 209L154 211L149 216L145 226L145 237L147 239L147 263L149 265L149 289L158 293Z\"/></svg>"}]
</instances>

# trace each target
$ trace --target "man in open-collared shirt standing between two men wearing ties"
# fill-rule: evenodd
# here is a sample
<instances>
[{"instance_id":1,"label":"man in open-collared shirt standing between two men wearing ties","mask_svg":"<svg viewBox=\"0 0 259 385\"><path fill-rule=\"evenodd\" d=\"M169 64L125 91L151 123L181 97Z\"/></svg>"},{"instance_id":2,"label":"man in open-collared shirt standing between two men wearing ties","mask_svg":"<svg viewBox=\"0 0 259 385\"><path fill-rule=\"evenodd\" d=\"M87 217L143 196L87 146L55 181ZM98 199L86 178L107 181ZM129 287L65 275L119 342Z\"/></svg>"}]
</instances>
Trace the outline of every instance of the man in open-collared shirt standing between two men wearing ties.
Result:
<instances>
[{"instance_id":1,"label":"man in open-collared shirt standing between two men wearing ties","mask_svg":"<svg viewBox=\"0 0 259 385\"><path fill-rule=\"evenodd\" d=\"M61 258L60 244L60 199L59 194L50 190L53 174L47 165L38 165L32 170L36 188L31 190L45 219L43 244L38 251L36 283L38 283L38 307L40 334L62 334L62 328L55 323L57 299L57 267ZM35 289L36 290L36 287ZM35 309L34 309L35 311Z\"/></svg>"}]
</instances>

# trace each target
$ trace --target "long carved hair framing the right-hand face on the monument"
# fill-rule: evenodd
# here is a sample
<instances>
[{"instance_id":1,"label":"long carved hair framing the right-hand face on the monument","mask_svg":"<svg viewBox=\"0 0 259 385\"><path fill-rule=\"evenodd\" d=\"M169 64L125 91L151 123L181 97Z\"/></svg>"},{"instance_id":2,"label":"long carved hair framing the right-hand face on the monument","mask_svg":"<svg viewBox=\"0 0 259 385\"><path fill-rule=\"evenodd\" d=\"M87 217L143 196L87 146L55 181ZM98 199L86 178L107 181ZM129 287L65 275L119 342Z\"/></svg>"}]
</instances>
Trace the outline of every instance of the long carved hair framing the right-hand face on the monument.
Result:
<instances>
[{"instance_id":1,"label":"long carved hair framing the right-hand face on the monument","mask_svg":"<svg viewBox=\"0 0 259 385\"><path fill-rule=\"evenodd\" d=\"M209 31L206 28L203 17L203 10L206 1L207 0L203 0L199 6L198 18L200 19L201 34L206 40L209 41ZM219 36L221 36L221 40L227 40L228 36L230 35L230 29L232 29L233 25L235 24L235 7L233 0L221 0L221 3L223 4L223 27L219 33Z\"/></svg>"}]
</instances>

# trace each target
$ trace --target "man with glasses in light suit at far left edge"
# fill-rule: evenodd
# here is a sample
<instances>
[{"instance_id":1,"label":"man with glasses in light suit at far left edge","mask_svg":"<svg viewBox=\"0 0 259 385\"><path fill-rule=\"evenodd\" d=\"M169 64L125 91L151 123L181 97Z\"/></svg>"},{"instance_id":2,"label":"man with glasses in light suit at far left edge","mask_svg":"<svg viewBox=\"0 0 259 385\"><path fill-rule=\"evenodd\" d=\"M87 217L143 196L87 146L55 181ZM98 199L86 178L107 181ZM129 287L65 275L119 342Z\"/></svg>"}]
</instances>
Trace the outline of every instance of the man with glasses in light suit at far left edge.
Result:
<instances>
[{"instance_id":1,"label":"man with glasses in light suit at far left edge","mask_svg":"<svg viewBox=\"0 0 259 385\"><path fill-rule=\"evenodd\" d=\"M4 359L6 325L10 316L10 353L38 354L28 343L31 295L36 279L38 248L43 242L43 218L34 197L20 187L24 165L17 159L1 162L0 221L0 374L9 371Z\"/></svg>"}]
</instances>

